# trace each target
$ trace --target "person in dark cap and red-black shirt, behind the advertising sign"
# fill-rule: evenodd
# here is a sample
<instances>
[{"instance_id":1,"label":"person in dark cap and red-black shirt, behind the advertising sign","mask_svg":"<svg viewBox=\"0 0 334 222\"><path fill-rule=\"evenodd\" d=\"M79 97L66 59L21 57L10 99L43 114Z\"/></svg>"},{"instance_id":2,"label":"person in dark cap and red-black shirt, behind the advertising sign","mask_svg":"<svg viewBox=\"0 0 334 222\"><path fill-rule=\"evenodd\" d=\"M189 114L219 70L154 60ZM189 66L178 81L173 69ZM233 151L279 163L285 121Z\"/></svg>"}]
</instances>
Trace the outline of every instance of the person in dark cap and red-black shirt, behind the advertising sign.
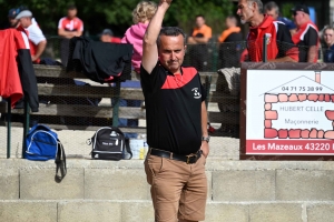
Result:
<instances>
[{"instance_id":1,"label":"person in dark cap and red-black shirt, behind the advertising sign","mask_svg":"<svg viewBox=\"0 0 334 222\"><path fill-rule=\"evenodd\" d=\"M299 62L317 62L318 50L318 29L310 19L310 10L306 6L296 6L293 10L296 33L293 42L299 49Z\"/></svg>"}]
</instances>

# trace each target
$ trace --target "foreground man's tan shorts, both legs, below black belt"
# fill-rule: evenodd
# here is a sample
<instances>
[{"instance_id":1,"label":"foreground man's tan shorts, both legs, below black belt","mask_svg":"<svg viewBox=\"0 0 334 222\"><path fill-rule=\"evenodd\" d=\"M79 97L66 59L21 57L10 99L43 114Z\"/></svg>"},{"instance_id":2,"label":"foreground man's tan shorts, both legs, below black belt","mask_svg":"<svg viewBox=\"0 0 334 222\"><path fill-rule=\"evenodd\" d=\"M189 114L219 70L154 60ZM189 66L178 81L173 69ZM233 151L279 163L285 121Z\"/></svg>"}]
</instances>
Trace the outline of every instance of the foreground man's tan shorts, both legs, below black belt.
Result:
<instances>
[{"instance_id":1,"label":"foreground man's tan shorts, both legs, below black belt","mask_svg":"<svg viewBox=\"0 0 334 222\"><path fill-rule=\"evenodd\" d=\"M196 163L147 155L145 172L156 222L203 221L207 196L205 157Z\"/></svg>"}]
</instances>

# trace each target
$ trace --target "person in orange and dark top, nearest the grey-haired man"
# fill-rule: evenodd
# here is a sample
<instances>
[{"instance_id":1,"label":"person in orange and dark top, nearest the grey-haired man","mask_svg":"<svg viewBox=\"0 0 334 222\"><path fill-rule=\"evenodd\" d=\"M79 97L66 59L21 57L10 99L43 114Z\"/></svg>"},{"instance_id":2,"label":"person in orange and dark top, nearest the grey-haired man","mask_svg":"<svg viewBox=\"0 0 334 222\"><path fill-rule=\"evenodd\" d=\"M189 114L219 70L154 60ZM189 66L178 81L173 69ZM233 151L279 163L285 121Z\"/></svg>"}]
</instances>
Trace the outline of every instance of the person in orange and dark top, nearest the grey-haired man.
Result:
<instances>
[{"instance_id":1,"label":"person in orange and dark top, nearest the grey-haired man","mask_svg":"<svg viewBox=\"0 0 334 222\"><path fill-rule=\"evenodd\" d=\"M237 19L229 16L225 20L226 30L218 38L219 42L219 67L232 68L239 67L240 54L243 51L243 34L237 27Z\"/></svg>"}]
</instances>

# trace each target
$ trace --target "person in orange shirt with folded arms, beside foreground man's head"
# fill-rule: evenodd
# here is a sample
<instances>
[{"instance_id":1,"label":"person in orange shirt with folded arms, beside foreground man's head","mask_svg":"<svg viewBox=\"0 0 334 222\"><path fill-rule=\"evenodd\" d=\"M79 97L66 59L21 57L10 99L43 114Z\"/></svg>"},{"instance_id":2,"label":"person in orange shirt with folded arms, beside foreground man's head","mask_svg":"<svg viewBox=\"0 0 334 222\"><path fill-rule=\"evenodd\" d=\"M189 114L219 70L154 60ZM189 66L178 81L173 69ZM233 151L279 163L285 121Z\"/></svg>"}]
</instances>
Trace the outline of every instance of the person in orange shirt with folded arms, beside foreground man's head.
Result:
<instances>
[{"instance_id":1,"label":"person in orange shirt with folded arms, beside foreground man's head","mask_svg":"<svg viewBox=\"0 0 334 222\"><path fill-rule=\"evenodd\" d=\"M196 27L187 40L189 46L190 65L198 71L208 70L208 48L207 43L213 37L212 28L205 24L204 16L196 17Z\"/></svg>"}]
</instances>

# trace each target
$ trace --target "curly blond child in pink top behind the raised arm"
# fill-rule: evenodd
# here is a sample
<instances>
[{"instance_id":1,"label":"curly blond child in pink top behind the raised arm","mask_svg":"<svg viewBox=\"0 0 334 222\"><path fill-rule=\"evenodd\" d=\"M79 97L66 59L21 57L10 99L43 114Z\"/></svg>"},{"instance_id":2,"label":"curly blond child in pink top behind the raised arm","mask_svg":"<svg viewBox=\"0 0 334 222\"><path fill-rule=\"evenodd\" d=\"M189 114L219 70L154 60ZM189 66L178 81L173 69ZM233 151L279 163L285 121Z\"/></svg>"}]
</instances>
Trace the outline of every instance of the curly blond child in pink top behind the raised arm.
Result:
<instances>
[{"instance_id":1,"label":"curly blond child in pink top behind the raised arm","mask_svg":"<svg viewBox=\"0 0 334 222\"><path fill-rule=\"evenodd\" d=\"M134 23L125 33L121 43L134 46L132 67L139 79L139 70L143 57L143 38L147 26L156 13L157 4L153 1L140 1L132 11Z\"/></svg>"}]
</instances>

